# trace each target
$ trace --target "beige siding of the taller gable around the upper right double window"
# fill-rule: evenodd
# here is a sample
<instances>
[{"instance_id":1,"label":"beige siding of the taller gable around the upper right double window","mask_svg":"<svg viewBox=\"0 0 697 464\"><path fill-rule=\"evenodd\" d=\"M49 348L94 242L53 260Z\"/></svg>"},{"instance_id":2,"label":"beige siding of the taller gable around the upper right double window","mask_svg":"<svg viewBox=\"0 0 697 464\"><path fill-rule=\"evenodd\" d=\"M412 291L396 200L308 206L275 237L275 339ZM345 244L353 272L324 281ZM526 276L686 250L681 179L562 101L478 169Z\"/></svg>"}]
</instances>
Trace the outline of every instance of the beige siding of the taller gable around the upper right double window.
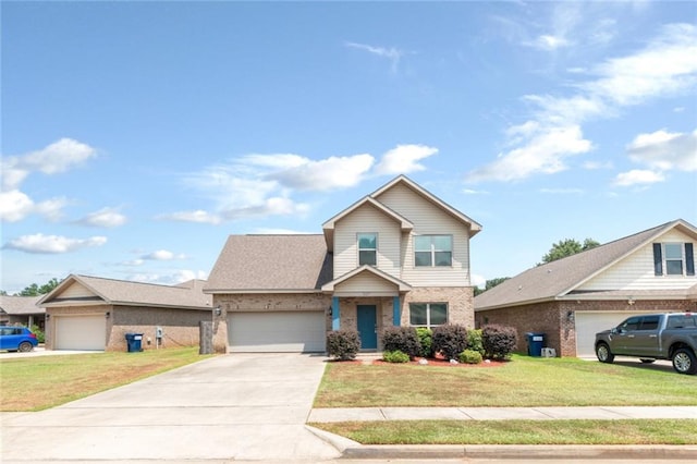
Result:
<instances>
[{"instance_id":1,"label":"beige siding of the taller gable around the upper right double window","mask_svg":"<svg viewBox=\"0 0 697 464\"><path fill-rule=\"evenodd\" d=\"M405 185L395 185L376 199L414 224L414 231L402 241L402 280L414 286L469 285L469 232L465 224ZM452 235L452 267L414 266L414 235L424 234Z\"/></svg>"}]
</instances>

